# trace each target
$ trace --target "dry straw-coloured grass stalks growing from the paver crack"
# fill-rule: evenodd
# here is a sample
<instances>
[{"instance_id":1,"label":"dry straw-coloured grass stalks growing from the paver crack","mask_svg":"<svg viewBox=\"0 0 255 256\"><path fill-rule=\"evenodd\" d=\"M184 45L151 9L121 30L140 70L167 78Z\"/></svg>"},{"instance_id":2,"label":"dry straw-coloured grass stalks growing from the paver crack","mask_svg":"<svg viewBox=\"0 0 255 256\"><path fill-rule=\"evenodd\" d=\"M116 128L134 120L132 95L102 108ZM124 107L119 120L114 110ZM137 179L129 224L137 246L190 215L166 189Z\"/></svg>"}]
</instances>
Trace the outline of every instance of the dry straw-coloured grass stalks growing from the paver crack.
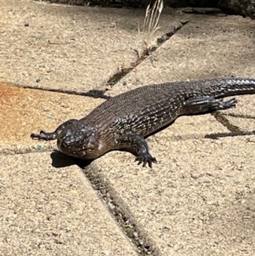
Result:
<instances>
[{"instance_id":1,"label":"dry straw-coloured grass stalks growing from the paver crack","mask_svg":"<svg viewBox=\"0 0 255 256\"><path fill-rule=\"evenodd\" d=\"M139 29L139 35L142 35L142 48L141 50L135 50L138 54L139 62L156 50L156 46L152 44L152 38L160 28L158 23L163 6L163 0L156 0L153 5L150 3L145 10L143 30L140 31Z\"/></svg>"}]
</instances>

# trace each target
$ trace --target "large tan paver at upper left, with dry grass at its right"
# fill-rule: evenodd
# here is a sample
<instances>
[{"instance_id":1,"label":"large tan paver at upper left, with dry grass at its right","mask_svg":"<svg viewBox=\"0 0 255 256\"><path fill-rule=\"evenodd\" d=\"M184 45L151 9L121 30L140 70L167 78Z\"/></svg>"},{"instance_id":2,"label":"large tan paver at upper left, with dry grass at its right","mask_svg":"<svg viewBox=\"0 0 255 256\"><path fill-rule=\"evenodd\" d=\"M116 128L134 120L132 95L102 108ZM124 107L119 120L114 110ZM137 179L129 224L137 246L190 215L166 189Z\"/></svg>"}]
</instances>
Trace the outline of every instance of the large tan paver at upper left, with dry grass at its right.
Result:
<instances>
[{"instance_id":1,"label":"large tan paver at upper left, with dry grass at its right","mask_svg":"<svg viewBox=\"0 0 255 256\"><path fill-rule=\"evenodd\" d=\"M141 48L138 27L144 10L97 9L1 0L0 77L20 85L88 91L105 83ZM168 9L161 30L178 22ZM183 16L178 16L179 20ZM25 24L29 26L25 26ZM40 82L37 82L40 79Z\"/></svg>"}]
</instances>

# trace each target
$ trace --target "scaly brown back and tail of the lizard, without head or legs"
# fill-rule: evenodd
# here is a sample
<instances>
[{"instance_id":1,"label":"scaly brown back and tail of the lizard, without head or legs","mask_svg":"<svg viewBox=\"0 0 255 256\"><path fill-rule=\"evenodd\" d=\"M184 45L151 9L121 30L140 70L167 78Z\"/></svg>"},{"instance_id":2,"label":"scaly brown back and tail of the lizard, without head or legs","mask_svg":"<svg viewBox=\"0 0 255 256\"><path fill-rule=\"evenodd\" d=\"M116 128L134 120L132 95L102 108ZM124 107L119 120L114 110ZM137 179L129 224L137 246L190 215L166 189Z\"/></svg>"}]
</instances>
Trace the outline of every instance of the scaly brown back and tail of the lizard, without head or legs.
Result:
<instances>
[{"instance_id":1,"label":"scaly brown back and tail of the lizard, without head or legs","mask_svg":"<svg viewBox=\"0 0 255 256\"><path fill-rule=\"evenodd\" d=\"M101 133L112 126L117 134L146 136L185 114L182 112L184 101L191 97L221 98L249 93L255 93L254 79L222 78L148 85L106 100L82 120L94 122Z\"/></svg>"}]
</instances>

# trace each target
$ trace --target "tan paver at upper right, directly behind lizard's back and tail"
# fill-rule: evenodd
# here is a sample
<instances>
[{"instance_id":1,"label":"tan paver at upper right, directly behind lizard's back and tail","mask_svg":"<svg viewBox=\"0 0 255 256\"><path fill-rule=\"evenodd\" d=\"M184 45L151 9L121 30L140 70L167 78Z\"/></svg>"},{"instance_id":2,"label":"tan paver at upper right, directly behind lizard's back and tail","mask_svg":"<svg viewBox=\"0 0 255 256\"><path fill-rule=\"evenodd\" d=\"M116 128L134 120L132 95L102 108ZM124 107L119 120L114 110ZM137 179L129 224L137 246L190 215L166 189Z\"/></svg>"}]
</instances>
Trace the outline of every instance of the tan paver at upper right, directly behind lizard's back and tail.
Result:
<instances>
[{"instance_id":1,"label":"tan paver at upper right, directly behind lizard's back and tail","mask_svg":"<svg viewBox=\"0 0 255 256\"><path fill-rule=\"evenodd\" d=\"M196 15L105 94L142 85L212 77L254 77L254 20Z\"/></svg>"}]
</instances>

